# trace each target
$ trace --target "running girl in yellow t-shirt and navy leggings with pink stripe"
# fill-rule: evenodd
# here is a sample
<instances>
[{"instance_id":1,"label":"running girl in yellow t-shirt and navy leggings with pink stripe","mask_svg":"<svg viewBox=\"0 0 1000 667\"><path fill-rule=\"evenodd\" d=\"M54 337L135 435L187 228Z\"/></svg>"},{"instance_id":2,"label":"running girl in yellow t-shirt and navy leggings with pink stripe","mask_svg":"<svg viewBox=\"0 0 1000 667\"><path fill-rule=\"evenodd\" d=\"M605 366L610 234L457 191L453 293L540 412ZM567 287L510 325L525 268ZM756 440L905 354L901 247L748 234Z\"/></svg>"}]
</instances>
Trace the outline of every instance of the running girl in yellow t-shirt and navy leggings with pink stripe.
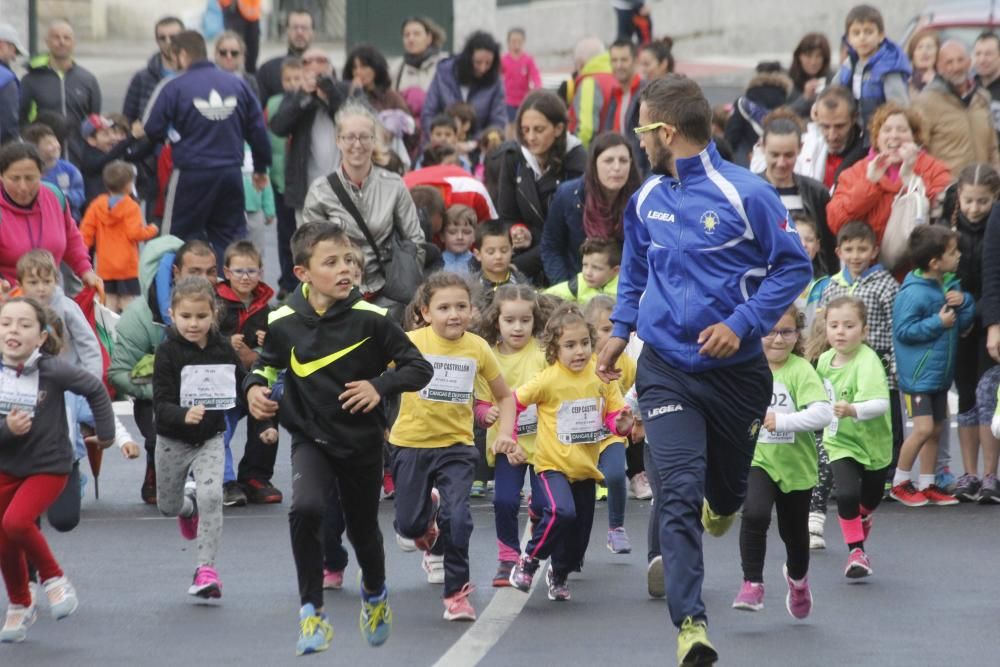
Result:
<instances>
[{"instance_id":1,"label":"running girl in yellow t-shirt and navy leggings with pink stripe","mask_svg":"<svg viewBox=\"0 0 1000 667\"><path fill-rule=\"evenodd\" d=\"M552 557L549 599L568 600L566 578L583 564L594 522L594 483L602 442L628 435L632 411L617 383L604 384L594 363L594 328L580 309L565 304L545 325L549 367L514 392L517 409L538 409L532 502L541 519L511 572L527 592L539 564Z\"/></svg>"}]
</instances>

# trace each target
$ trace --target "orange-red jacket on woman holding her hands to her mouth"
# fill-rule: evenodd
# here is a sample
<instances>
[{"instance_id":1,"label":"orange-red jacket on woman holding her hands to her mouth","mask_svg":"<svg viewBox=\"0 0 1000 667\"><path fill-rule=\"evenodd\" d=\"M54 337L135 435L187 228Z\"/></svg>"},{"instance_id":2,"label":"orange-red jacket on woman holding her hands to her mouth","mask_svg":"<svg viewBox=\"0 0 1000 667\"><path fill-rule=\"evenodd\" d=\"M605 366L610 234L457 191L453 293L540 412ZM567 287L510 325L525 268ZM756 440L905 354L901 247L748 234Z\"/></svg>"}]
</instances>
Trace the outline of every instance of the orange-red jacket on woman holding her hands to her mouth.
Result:
<instances>
[{"instance_id":1,"label":"orange-red jacket on woman holding her hands to her mouth","mask_svg":"<svg viewBox=\"0 0 1000 667\"><path fill-rule=\"evenodd\" d=\"M869 181L868 163L871 159L869 156L859 160L841 172L833 197L826 205L826 222L830 231L837 234L848 222L864 220L875 230L875 238L881 243L892 212L893 199L903 183L898 178L890 180L888 176L883 176L878 183ZM948 165L923 150L913 166L913 173L923 179L927 198L932 204L951 183Z\"/></svg>"}]
</instances>

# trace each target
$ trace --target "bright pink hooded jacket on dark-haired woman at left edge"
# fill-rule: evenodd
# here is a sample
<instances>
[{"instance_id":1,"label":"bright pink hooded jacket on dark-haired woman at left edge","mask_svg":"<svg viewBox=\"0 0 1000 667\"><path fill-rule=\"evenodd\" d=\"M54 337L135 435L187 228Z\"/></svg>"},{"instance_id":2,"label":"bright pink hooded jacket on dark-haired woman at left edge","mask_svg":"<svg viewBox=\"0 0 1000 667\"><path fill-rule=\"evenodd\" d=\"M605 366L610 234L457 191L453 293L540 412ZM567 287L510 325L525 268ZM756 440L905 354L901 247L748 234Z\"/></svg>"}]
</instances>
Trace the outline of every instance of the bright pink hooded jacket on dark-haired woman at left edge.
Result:
<instances>
[{"instance_id":1,"label":"bright pink hooded jacket on dark-haired woman at left edge","mask_svg":"<svg viewBox=\"0 0 1000 667\"><path fill-rule=\"evenodd\" d=\"M35 248L51 252L56 264L65 261L78 276L93 269L69 208L51 190L42 185L35 203L23 209L0 187L0 276L13 285L17 260Z\"/></svg>"}]
</instances>

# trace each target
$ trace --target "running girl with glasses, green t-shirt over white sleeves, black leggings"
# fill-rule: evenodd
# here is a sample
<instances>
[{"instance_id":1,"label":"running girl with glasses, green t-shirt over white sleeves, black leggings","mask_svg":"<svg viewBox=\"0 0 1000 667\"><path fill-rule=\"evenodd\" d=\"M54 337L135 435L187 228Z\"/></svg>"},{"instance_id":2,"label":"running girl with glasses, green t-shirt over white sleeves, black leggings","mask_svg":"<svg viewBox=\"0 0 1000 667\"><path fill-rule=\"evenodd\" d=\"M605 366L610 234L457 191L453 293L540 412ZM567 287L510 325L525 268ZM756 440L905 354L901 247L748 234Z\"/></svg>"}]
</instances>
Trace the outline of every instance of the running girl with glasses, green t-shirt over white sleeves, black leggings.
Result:
<instances>
[{"instance_id":1,"label":"running girl with glasses, green t-shirt over white sleeves, black leggings","mask_svg":"<svg viewBox=\"0 0 1000 667\"><path fill-rule=\"evenodd\" d=\"M771 509L785 543L785 608L794 618L812 609L809 570L809 503L817 481L816 436L833 419L833 407L812 365L798 354L799 311L792 306L764 336L774 375L771 407L757 436L740 525L743 587L733 609L764 608L764 554Z\"/></svg>"}]
</instances>

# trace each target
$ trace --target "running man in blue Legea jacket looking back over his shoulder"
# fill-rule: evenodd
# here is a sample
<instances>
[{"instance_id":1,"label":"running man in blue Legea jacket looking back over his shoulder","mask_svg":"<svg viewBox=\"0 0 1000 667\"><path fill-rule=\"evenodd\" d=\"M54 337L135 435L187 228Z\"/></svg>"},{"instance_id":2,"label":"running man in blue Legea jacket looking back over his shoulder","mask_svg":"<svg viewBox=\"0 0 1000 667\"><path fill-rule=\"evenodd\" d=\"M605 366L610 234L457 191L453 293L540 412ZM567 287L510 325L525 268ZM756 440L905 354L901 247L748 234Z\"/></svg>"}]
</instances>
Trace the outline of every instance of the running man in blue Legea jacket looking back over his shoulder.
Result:
<instances>
[{"instance_id":1,"label":"running man in blue Legea jacket looking back over his shoulder","mask_svg":"<svg viewBox=\"0 0 1000 667\"><path fill-rule=\"evenodd\" d=\"M721 535L743 503L771 398L760 339L812 277L777 192L719 157L711 120L686 77L642 93L636 133L654 172L674 176L651 177L626 209L614 331L598 359L612 379L629 334L645 342L636 388L682 665L717 659L701 600L703 525Z\"/></svg>"}]
</instances>

